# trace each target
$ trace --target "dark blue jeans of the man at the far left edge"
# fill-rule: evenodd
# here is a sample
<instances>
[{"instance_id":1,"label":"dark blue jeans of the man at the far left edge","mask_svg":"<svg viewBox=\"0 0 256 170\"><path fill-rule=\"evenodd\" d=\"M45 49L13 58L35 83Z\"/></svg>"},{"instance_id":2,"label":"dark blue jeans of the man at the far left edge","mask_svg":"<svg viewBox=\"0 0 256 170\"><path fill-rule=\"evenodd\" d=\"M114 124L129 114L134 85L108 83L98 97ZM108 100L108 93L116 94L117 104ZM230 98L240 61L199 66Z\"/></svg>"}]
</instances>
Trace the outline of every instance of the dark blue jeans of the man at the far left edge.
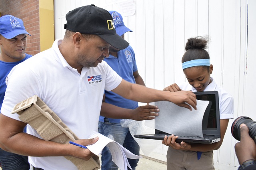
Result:
<instances>
[{"instance_id":1,"label":"dark blue jeans of the man at the far left edge","mask_svg":"<svg viewBox=\"0 0 256 170\"><path fill-rule=\"evenodd\" d=\"M29 170L28 156L7 152L0 148L2 170Z\"/></svg>"}]
</instances>

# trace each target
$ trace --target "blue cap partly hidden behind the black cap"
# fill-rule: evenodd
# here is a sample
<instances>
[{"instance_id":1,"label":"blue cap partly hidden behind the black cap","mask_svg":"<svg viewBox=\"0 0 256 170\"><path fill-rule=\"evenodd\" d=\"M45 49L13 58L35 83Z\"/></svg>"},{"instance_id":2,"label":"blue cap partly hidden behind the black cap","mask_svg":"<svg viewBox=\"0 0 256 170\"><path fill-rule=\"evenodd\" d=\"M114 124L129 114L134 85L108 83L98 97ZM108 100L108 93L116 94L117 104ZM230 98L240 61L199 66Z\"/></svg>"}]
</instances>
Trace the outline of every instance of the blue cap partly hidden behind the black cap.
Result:
<instances>
[{"instance_id":1,"label":"blue cap partly hidden behind the black cap","mask_svg":"<svg viewBox=\"0 0 256 170\"><path fill-rule=\"evenodd\" d=\"M118 34L119 36L122 36L124 33L128 31L132 32L132 30L130 30L124 25L123 17L121 16L121 14L119 14L116 11L108 11L108 12L111 14L113 18L113 22L116 28L116 34Z\"/></svg>"}]
</instances>

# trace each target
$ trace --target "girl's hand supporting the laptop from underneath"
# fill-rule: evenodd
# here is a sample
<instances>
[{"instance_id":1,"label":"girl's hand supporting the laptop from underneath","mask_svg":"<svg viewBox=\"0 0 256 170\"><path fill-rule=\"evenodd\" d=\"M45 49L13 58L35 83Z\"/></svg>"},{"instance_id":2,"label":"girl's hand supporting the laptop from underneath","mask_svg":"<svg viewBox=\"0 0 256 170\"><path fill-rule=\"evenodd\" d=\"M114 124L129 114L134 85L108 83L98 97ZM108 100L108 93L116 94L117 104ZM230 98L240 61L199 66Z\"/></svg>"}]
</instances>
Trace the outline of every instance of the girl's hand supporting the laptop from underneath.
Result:
<instances>
[{"instance_id":1,"label":"girl's hand supporting the laptop from underneath","mask_svg":"<svg viewBox=\"0 0 256 170\"><path fill-rule=\"evenodd\" d=\"M171 136L164 136L164 140L162 140L162 144L166 145L166 146L171 146L174 149L177 150L190 150L191 145L187 144L185 142L180 142L177 143L176 142L176 138L178 138L178 136L174 136L174 134L172 134Z\"/></svg>"}]
</instances>

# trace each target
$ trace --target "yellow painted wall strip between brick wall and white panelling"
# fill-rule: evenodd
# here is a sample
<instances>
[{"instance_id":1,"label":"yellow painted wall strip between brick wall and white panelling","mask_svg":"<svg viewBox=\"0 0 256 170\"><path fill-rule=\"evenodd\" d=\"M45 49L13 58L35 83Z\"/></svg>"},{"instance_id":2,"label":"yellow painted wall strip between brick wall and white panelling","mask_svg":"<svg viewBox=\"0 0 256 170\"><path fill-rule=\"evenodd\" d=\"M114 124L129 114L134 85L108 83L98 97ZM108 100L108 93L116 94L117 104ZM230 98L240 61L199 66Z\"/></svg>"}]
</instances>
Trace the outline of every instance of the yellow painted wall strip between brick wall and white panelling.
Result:
<instances>
[{"instance_id":1,"label":"yellow painted wall strip between brick wall and white panelling","mask_svg":"<svg viewBox=\"0 0 256 170\"><path fill-rule=\"evenodd\" d=\"M52 47L54 42L54 1L39 0L40 49Z\"/></svg>"}]
</instances>

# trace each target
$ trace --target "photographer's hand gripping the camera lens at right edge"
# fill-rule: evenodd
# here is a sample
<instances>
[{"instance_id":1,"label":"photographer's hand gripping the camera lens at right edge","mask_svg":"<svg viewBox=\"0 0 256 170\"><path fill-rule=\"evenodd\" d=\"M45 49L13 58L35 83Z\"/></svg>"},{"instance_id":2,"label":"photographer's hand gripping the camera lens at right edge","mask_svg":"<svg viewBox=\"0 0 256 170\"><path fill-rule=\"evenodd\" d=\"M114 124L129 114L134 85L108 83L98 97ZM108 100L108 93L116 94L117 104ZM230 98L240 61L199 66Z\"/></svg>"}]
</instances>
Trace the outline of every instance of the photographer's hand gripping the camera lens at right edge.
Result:
<instances>
[{"instance_id":1,"label":"photographer's hand gripping the camera lens at right edge","mask_svg":"<svg viewBox=\"0 0 256 170\"><path fill-rule=\"evenodd\" d=\"M249 129L245 124L240 125L241 140L235 145L236 156L240 165L246 160L256 160L256 144L249 136Z\"/></svg>"}]
</instances>

